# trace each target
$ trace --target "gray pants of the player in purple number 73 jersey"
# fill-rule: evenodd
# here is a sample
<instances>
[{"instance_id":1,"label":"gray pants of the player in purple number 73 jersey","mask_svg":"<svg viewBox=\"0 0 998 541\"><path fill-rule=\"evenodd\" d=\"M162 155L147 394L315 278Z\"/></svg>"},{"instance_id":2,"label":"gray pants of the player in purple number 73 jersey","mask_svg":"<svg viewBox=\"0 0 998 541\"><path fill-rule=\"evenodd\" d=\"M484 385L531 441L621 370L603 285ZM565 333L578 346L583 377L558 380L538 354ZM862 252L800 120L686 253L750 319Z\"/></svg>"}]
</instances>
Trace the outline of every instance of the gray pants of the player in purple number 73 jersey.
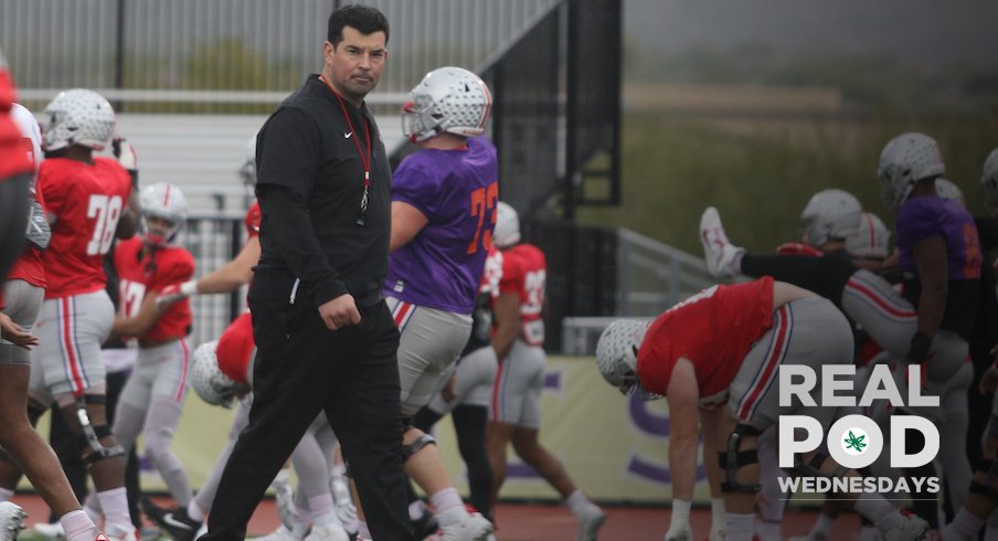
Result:
<instances>
[{"instance_id":1,"label":"gray pants of the player in purple number 73 jersey","mask_svg":"<svg viewBox=\"0 0 998 541\"><path fill-rule=\"evenodd\" d=\"M411 417L429 403L438 382L471 335L471 316L387 298L399 332L402 415Z\"/></svg>"}]
</instances>

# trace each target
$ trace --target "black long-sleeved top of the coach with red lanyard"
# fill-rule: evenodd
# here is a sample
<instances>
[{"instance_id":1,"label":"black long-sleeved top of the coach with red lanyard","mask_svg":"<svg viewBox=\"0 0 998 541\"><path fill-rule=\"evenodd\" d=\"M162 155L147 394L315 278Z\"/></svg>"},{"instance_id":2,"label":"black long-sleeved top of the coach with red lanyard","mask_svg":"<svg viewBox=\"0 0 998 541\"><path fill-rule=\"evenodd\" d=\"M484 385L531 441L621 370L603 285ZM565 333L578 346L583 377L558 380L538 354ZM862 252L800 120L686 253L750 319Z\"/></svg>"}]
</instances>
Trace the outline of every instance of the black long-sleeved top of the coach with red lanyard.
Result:
<instances>
[{"instance_id":1,"label":"black long-sleeved top of the coach with red lanyard","mask_svg":"<svg viewBox=\"0 0 998 541\"><path fill-rule=\"evenodd\" d=\"M297 277L300 284L289 296L316 306L344 293L360 306L372 305L381 299L387 270L392 172L384 142L367 107L342 103L352 128L337 96L310 75L270 115L256 142L263 220L254 280ZM359 224L369 153L365 125L370 187Z\"/></svg>"}]
</instances>

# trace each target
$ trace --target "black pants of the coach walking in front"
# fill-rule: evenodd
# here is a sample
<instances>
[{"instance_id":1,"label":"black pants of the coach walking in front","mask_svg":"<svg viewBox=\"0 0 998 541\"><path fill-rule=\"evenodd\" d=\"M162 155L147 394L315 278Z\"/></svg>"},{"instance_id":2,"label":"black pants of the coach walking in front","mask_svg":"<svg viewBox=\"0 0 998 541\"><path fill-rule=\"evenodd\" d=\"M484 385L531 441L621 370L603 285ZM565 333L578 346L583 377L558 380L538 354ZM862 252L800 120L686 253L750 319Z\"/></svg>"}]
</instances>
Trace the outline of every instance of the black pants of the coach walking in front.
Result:
<instances>
[{"instance_id":1,"label":"black pants of the coach walking in front","mask_svg":"<svg viewBox=\"0 0 998 541\"><path fill-rule=\"evenodd\" d=\"M329 417L378 541L411 541L402 473L399 330L384 300L330 331L291 279L257 268L250 288L257 357L250 424L225 465L204 540L241 540L254 509L320 411Z\"/></svg>"}]
</instances>

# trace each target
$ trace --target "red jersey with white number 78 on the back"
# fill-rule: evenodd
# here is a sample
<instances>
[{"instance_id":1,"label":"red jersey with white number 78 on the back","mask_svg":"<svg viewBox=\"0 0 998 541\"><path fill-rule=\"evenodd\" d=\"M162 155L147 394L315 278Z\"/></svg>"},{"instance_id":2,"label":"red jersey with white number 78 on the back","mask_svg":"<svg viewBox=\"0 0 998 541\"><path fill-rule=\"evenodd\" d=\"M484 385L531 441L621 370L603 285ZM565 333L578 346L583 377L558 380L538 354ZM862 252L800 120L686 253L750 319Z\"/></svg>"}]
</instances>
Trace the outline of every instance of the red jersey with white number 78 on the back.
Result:
<instances>
[{"instance_id":1,"label":"red jersey with white number 78 on the back","mask_svg":"<svg viewBox=\"0 0 998 541\"><path fill-rule=\"evenodd\" d=\"M100 259L128 204L131 177L110 158L94 158L93 163L50 158L42 161L38 191L55 216L52 241L42 253L45 298L103 289L107 277Z\"/></svg>"}]
</instances>

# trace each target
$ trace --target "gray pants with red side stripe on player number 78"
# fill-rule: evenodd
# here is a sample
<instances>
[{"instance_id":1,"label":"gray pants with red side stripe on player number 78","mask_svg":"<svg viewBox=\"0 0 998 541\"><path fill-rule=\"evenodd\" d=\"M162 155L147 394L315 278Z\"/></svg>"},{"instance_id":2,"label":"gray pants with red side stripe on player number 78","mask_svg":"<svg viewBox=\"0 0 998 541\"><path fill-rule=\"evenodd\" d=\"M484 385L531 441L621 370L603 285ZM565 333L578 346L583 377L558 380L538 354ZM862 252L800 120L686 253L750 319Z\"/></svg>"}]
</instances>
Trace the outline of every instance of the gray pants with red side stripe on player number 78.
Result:
<instances>
[{"instance_id":1,"label":"gray pants with red side stripe on player number 78","mask_svg":"<svg viewBox=\"0 0 998 541\"><path fill-rule=\"evenodd\" d=\"M110 335L115 307L104 289L49 299L35 326L31 397L41 405L72 403L74 394L104 394L107 372L100 344Z\"/></svg>"}]
</instances>

